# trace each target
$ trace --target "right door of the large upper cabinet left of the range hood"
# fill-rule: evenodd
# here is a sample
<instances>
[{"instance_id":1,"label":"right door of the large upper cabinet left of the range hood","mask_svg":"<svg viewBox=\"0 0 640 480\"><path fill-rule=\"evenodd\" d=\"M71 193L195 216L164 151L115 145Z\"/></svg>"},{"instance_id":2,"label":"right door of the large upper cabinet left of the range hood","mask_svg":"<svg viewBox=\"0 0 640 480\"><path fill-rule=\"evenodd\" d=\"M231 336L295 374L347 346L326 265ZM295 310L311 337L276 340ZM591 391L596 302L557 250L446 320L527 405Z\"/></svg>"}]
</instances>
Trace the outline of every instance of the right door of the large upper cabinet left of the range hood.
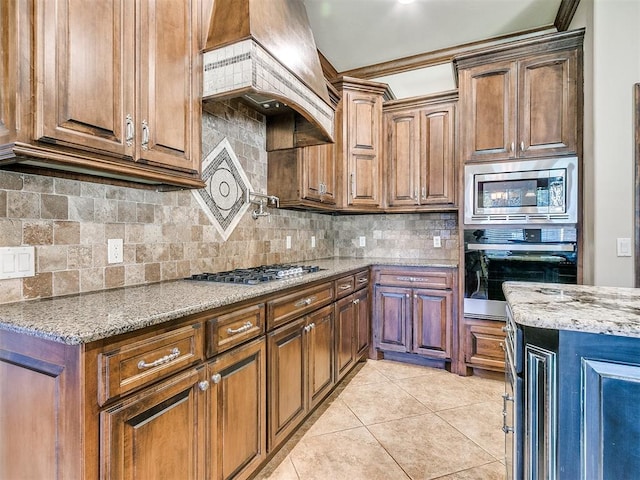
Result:
<instances>
[{"instance_id":1,"label":"right door of the large upper cabinet left of the range hood","mask_svg":"<svg viewBox=\"0 0 640 480\"><path fill-rule=\"evenodd\" d=\"M137 157L187 172L199 169L198 2L137 2L140 64ZM197 62L196 62L197 65Z\"/></svg>"}]
</instances>

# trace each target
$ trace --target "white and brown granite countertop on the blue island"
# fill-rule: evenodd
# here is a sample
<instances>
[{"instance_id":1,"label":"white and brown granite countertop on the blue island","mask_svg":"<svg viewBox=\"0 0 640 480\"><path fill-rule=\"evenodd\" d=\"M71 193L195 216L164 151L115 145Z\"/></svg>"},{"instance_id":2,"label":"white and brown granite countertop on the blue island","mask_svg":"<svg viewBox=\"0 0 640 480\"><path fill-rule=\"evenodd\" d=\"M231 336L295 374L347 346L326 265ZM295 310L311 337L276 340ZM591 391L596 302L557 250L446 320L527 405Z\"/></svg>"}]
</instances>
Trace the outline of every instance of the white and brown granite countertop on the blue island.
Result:
<instances>
[{"instance_id":1,"label":"white and brown granite countertop on the blue island","mask_svg":"<svg viewBox=\"0 0 640 480\"><path fill-rule=\"evenodd\" d=\"M640 337L640 289L528 282L502 289L520 325Z\"/></svg>"}]
</instances>

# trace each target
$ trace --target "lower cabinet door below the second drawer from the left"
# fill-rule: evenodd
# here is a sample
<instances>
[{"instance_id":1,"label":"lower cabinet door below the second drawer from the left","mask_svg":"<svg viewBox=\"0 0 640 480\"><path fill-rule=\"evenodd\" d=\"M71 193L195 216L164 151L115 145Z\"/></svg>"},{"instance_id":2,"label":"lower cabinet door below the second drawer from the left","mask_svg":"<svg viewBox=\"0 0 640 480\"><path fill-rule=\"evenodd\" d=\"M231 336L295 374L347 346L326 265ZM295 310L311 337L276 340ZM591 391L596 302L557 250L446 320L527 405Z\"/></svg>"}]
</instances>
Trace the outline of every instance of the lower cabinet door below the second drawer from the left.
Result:
<instances>
[{"instance_id":1,"label":"lower cabinet door below the second drawer from the left","mask_svg":"<svg viewBox=\"0 0 640 480\"><path fill-rule=\"evenodd\" d=\"M266 354L259 339L209 363L208 478L247 478L266 458Z\"/></svg>"}]
</instances>

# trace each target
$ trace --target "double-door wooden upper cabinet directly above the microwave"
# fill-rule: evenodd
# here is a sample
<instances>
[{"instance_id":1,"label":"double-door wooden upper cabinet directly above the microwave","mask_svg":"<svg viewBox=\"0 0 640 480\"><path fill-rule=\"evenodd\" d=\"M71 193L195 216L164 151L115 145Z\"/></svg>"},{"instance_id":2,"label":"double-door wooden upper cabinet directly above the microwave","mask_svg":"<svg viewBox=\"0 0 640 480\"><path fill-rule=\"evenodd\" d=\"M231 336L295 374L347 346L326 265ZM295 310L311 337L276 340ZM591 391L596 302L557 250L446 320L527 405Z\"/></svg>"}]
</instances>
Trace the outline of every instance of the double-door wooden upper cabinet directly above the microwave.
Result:
<instances>
[{"instance_id":1,"label":"double-door wooden upper cabinet directly above the microwave","mask_svg":"<svg viewBox=\"0 0 640 480\"><path fill-rule=\"evenodd\" d=\"M578 152L584 30L456 58L465 162Z\"/></svg>"}]
</instances>

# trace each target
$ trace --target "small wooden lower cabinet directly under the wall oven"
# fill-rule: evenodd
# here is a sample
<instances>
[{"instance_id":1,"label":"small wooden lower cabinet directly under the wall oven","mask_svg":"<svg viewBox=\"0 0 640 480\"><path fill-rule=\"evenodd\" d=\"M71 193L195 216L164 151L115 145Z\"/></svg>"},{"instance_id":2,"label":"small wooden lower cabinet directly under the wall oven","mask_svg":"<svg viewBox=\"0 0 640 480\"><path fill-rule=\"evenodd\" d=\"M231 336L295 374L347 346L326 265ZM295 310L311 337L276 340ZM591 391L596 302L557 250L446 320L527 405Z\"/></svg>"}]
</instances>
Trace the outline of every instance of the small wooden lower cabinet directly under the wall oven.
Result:
<instances>
[{"instance_id":1,"label":"small wooden lower cabinet directly under the wall oven","mask_svg":"<svg viewBox=\"0 0 640 480\"><path fill-rule=\"evenodd\" d=\"M504 372L505 322L465 318L464 363L467 368Z\"/></svg>"}]
</instances>

